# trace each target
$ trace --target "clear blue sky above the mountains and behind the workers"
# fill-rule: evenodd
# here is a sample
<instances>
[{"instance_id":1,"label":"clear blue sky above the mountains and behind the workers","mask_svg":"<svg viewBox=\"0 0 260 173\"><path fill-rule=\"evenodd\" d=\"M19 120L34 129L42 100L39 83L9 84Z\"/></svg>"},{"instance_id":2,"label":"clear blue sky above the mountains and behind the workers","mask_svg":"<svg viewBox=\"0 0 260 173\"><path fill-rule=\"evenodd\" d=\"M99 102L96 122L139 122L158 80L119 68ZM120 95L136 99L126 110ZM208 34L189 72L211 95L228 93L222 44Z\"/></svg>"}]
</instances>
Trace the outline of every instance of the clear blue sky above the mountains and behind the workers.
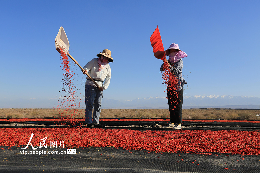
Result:
<instances>
[{"instance_id":1,"label":"clear blue sky above the mountains and behind the workers","mask_svg":"<svg viewBox=\"0 0 260 173\"><path fill-rule=\"evenodd\" d=\"M104 98L166 96L162 61L153 56L149 40L157 25L165 49L177 43L188 54L185 95L260 97L259 6L259 1L3 1L0 100L59 96L60 26L81 66L103 49L112 52ZM76 66L73 72L83 96L86 76Z\"/></svg>"}]
</instances>

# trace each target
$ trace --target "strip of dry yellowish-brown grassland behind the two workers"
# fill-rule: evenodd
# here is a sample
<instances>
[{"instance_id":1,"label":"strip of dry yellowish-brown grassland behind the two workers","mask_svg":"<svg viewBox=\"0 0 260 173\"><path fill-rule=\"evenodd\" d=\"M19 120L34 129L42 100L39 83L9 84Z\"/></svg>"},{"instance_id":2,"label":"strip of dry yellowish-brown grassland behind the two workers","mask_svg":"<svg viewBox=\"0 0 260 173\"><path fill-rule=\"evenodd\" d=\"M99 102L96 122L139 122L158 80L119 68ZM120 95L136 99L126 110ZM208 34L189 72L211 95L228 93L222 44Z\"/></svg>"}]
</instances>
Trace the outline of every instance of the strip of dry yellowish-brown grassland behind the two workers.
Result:
<instances>
[{"instance_id":1,"label":"strip of dry yellowish-brown grassland behind the two workers","mask_svg":"<svg viewBox=\"0 0 260 173\"><path fill-rule=\"evenodd\" d=\"M60 117L63 110L57 109L0 109L0 118L44 118ZM84 109L77 112L67 110L68 115L84 117ZM183 119L226 119L226 120L259 120L256 115L260 110L233 110L233 109L184 109ZM101 118L166 118L168 109L102 109ZM72 116L70 116L72 117Z\"/></svg>"}]
</instances>

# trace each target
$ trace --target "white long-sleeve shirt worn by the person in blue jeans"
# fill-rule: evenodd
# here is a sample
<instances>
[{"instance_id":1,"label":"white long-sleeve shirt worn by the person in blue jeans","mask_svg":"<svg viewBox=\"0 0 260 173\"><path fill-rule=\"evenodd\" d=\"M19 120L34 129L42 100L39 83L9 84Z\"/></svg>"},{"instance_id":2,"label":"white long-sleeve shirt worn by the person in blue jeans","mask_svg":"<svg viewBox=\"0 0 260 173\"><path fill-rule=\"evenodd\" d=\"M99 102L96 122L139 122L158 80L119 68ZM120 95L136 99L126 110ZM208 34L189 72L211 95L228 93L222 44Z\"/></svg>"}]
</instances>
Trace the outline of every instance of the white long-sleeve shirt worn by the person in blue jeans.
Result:
<instances>
[{"instance_id":1,"label":"white long-sleeve shirt worn by the person in blue jeans","mask_svg":"<svg viewBox=\"0 0 260 173\"><path fill-rule=\"evenodd\" d=\"M103 85L100 81L95 82L97 85L102 86L104 90L107 89L111 78L111 69L109 64L106 65L106 68L103 68L101 71L99 71L98 58L94 58L89 61L88 64L83 67L83 69L88 71L88 74L92 79L105 81ZM87 79L89 79L88 76ZM87 80L86 84L96 86L91 80Z\"/></svg>"}]
</instances>

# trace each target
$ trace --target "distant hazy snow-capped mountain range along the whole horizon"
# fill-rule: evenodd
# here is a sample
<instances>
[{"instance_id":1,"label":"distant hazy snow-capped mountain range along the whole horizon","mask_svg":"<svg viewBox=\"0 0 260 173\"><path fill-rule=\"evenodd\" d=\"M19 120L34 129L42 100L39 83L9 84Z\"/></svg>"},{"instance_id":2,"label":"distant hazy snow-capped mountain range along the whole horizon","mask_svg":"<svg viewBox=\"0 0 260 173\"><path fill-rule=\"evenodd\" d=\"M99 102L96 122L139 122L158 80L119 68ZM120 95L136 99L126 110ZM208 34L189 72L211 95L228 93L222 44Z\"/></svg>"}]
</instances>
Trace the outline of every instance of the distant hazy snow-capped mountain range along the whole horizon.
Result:
<instances>
[{"instance_id":1,"label":"distant hazy snow-capped mountain range along the whole horizon","mask_svg":"<svg viewBox=\"0 0 260 173\"><path fill-rule=\"evenodd\" d=\"M58 99L16 99L3 98L0 108L57 108ZM82 99L83 100L83 99ZM259 109L260 98L232 95L184 96L183 109L190 108L248 108ZM84 107L82 103L81 107ZM137 109L167 109L166 97L148 97L134 100L102 100L102 108L137 108Z\"/></svg>"}]
</instances>

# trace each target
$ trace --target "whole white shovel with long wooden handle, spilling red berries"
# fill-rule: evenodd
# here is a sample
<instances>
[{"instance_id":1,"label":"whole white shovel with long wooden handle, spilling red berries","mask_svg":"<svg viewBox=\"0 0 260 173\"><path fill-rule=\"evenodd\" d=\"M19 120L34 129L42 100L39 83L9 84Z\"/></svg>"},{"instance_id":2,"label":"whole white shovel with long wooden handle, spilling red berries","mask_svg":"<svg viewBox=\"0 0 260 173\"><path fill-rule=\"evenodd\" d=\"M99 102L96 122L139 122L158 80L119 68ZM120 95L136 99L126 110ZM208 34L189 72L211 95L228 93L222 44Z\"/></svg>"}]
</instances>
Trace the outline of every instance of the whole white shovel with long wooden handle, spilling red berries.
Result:
<instances>
[{"instance_id":1,"label":"whole white shovel with long wooden handle, spilling red berries","mask_svg":"<svg viewBox=\"0 0 260 173\"><path fill-rule=\"evenodd\" d=\"M80 65L79 63L69 54L69 40L68 40L68 37L63 29L63 27L61 26L60 27L60 30L55 38L55 47L56 47L56 50L58 52L61 53L60 51L60 48L61 50L66 54L68 55L73 61L75 64L77 64L81 70L85 71ZM87 73L87 76L89 77L90 80L92 80L92 82L94 82L94 84L100 88L99 85L97 85L97 83L90 77L90 75Z\"/></svg>"}]
</instances>

